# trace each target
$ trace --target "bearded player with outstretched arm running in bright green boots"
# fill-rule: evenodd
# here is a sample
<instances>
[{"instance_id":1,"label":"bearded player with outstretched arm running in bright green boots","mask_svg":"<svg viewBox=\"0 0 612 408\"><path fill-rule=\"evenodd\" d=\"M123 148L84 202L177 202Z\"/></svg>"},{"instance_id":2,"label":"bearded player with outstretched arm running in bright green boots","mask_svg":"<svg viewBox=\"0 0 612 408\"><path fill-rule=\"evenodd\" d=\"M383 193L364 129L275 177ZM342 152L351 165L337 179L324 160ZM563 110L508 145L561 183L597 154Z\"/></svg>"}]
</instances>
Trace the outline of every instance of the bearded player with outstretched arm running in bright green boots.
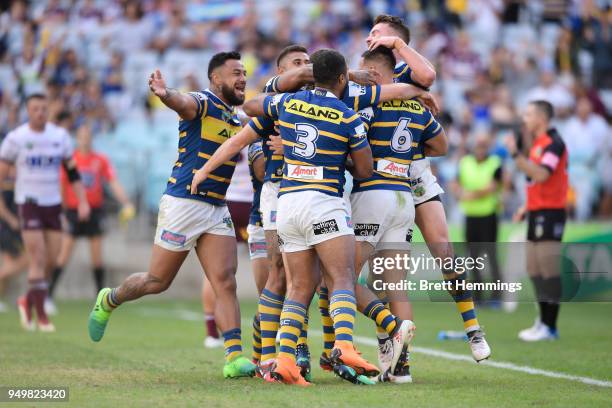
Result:
<instances>
[{"instance_id":1,"label":"bearded player with outstretched arm running in bright green boots","mask_svg":"<svg viewBox=\"0 0 612 408\"><path fill-rule=\"evenodd\" d=\"M234 106L244 102L246 71L237 52L213 56L210 88L184 94L166 87L159 72L149 87L179 115L178 160L159 206L148 272L130 275L120 286L100 291L89 317L89 334L100 341L111 312L126 301L166 290L192 248L215 295L217 325L223 331L224 377L252 376L255 365L242 355L240 309L236 297L236 237L224 198L236 161L223 163L193 189L192 178L215 150L240 130Z\"/></svg>"}]
</instances>

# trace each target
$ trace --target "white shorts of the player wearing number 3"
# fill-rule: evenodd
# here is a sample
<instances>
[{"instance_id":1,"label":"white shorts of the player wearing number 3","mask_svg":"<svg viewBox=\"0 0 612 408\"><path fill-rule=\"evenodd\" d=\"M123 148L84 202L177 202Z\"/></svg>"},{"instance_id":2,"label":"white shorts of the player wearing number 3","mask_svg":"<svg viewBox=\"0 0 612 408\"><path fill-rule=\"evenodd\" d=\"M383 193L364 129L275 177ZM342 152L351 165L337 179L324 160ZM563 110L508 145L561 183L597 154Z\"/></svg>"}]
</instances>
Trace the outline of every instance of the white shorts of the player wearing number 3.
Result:
<instances>
[{"instance_id":1,"label":"white shorts of the player wearing number 3","mask_svg":"<svg viewBox=\"0 0 612 408\"><path fill-rule=\"evenodd\" d=\"M278 199L278 236L283 252L297 252L313 245L353 235L346 201L316 191L283 194Z\"/></svg>"}]
</instances>

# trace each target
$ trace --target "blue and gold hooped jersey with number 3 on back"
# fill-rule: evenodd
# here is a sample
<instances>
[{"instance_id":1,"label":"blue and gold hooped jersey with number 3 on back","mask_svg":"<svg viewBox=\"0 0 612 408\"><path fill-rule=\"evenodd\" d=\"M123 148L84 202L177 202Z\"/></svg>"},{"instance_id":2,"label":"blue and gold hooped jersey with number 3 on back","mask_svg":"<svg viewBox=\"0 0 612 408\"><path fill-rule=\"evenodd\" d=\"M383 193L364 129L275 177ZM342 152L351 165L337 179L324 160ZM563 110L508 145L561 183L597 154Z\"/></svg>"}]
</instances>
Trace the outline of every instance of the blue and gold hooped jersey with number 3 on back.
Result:
<instances>
[{"instance_id":1,"label":"blue and gold hooped jersey with number 3 on back","mask_svg":"<svg viewBox=\"0 0 612 408\"><path fill-rule=\"evenodd\" d=\"M359 115L325 89L268 96L264 111L283 139L279 196L309 190L342 197L347 155L368 146Z\"/></svg>"}]
</instances>

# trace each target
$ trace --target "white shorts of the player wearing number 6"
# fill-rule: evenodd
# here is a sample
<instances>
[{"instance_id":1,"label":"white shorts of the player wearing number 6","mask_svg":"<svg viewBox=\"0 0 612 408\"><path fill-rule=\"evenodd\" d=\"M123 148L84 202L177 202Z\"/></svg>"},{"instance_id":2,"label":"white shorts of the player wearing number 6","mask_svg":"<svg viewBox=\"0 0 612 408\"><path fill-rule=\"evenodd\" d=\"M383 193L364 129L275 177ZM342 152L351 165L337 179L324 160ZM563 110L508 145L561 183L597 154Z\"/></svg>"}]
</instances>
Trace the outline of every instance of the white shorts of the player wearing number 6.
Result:
<instances>
[{"instance_id":1,"label":"white shorts of the player wearing number 6","mask_svg":"<svg viewBox=\"0 0 612 408\"><path fill-rule=\"evenodd\" d=\"M369 190L351 195L355 239L374 248L409 250L414 203L408 191Z\"/></svg>"}]
</instances>

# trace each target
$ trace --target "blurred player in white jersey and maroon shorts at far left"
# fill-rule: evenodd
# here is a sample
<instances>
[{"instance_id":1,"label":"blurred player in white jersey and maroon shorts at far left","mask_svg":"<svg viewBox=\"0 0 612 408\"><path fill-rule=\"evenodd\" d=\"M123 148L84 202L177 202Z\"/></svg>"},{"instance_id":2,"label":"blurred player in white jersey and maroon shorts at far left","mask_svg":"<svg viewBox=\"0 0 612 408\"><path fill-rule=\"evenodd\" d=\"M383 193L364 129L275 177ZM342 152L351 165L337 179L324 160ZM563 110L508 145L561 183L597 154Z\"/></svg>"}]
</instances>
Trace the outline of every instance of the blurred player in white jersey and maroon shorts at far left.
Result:
<instances>
[{"instance_id":1,"label":"blurred player in white jersey and maroon shorts at far left","mask_svg":"<svg viewBox=\"0 0 612 408\"><path fill-rule=\"evenodd\" d=\"M61 237L61 166L66 169L79 197L79 219L89 217L89 204L72 160L72 141L68 133L47 121L47 98L33 94L26 99L28 122L11 131L0 147L0 180L9 168L16 168L15 203L18 217L0 201L0 218L13 229L21 229L24 248L30 259L29 288L17 300L21 325L34 330L32 308L36 310L38 328L55 331L44 309L47 278L55 266Z\"/></svg>"}]
</instances>

